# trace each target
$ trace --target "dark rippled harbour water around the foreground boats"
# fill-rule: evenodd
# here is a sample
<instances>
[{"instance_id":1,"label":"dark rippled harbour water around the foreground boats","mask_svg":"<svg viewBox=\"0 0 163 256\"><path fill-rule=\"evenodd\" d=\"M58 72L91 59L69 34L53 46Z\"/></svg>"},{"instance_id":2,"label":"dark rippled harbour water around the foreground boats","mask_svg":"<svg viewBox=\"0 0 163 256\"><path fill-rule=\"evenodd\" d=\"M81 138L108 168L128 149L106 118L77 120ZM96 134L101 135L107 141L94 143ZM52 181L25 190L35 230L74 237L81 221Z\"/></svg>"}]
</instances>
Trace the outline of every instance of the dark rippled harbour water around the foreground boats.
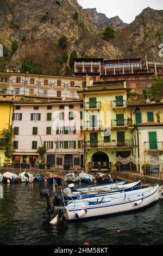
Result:
<instances>
[{"instance_id":1,"label":"dark rippled harbour water around the foreground boats","mask_svg":"<svg viewBox=\"0 0 163 256\"><path fill-rule=\"evenodd\" d=\"M162 245L163 200L130 214L49 225L42 218L49 184L1 184L0 244L3 245ZM1 191L0 190L0 191ZM151 216L151 218L149 218ZM120 229L120 233L117 230Z\"/></svg>"}]
</instances>

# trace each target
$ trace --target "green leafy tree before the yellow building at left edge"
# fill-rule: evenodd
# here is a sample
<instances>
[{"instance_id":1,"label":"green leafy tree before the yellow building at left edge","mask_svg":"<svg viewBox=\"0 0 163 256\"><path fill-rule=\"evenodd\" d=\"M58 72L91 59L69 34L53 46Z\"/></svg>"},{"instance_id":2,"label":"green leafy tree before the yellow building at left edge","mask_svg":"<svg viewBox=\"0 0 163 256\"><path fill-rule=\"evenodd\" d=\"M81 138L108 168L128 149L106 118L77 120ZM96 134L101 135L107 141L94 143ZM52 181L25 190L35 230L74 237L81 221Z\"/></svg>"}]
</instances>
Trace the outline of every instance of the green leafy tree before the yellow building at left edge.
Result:
<instances>
[{"instance_id":1,"label":"green leafy tree before the yellow building at left edge","mask_svg":"<svg viewBox=\"0 0 163 256\"><path fill-rule=\"evenodd\" d=\"M4 144L5 157L10 159L13 153L15 152L14 145L13 145L13 139L15 138L14 129L12 129L12 127L9 126L9 130L3 129L0 135L5 141L5 144Z\"/></svg>"}]
</instances>

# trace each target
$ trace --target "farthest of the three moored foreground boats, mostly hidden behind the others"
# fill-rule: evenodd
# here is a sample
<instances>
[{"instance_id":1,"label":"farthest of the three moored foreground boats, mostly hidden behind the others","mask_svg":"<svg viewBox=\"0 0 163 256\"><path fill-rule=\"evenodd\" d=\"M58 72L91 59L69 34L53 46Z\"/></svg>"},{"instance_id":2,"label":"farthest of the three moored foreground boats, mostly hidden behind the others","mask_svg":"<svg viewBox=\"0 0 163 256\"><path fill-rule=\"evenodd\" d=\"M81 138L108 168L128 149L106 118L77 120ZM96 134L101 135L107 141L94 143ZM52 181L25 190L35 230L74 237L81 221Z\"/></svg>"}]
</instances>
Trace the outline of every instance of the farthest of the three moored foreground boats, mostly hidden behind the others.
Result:
<instances>
[{"instance_id":1,"label":"farthest of the three moored foreground boats, mostly hidden behind the others","mask_svg":"<svg viewBox=\"0 0 163 256\"><path fill-rule=\"evenodd\" d=\"M111 187L115 187L118 185L124 185L127 183L127 180L120 180L120 181L116 181L116 182L112 182L109 184L101 184L101 185L96 185L96 186L87 186L87 187L74 187L74 191L96 191L99 190L99 188L111 188Z\"/></svg>"}]
</instances>

